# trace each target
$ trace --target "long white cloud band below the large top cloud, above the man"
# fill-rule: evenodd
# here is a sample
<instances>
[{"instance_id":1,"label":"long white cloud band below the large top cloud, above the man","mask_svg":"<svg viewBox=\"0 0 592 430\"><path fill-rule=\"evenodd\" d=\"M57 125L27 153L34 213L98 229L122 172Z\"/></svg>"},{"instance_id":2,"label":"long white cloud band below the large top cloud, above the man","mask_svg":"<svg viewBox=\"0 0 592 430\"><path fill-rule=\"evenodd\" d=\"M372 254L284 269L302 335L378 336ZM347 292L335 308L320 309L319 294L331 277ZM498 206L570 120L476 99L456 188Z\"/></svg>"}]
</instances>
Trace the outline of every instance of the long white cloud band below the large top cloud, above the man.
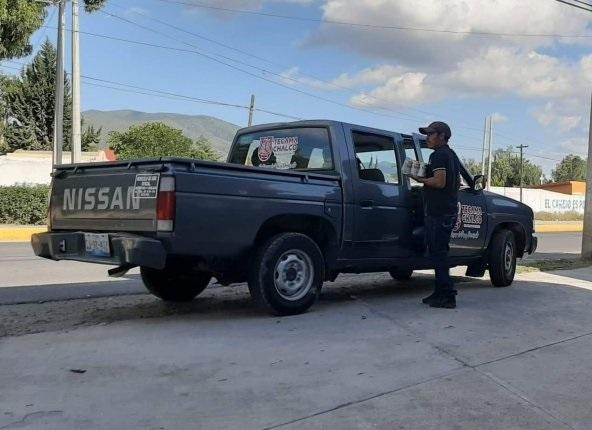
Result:
<instances>
[{"instance_id":1,"label":"long white cloud band below the large top cloud, above the man","mask_svg":"<svg viewBox=\"0 0 592 430\"><path fill-rule=\"evenodd\" d=\"M458 62L454 68L442 72L420 67L381 65L354 74L341 74L330 82L300 76L298 68L285 73L290 77L291 84L301 83L325 90L359 89L360 93L351 99L356 106L417 105L444 97L492 95L555 99L565 104L564 99L579 97L582 88L592 87L592 55L574 64L566 64L558 58L534 51L490 48L483 55ZM544 125L557 119L549 115L551 108L535 113ZM564 117L560 124L565 129L579 125L579 115L563 112L560 116Z\"/></svg>"}]
</instances>

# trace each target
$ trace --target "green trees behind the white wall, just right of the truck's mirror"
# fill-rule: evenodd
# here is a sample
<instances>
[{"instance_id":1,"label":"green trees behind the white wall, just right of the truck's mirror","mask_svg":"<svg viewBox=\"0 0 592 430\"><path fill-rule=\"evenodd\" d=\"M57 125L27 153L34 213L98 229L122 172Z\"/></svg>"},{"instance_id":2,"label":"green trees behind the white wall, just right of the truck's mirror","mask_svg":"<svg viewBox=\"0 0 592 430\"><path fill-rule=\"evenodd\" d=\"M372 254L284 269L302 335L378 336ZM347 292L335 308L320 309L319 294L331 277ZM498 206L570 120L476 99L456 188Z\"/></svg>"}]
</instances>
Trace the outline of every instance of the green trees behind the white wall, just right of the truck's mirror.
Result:
<instances>
[{"instance_id":1,"label":"green trees behind the white wall, just right of the truck's mirror","mask_svg":"<svg viewBox=\"0 0 592 430\"><path fill-rule=\"evenodd\" d=\"M542 179L543 169L525 158L523 161L523 185L540 185ZM495 151L491 166L491 185L494 187L517 187L520 185L520 157L512 151L511 147Z\"/></svg>"}]
</instances>

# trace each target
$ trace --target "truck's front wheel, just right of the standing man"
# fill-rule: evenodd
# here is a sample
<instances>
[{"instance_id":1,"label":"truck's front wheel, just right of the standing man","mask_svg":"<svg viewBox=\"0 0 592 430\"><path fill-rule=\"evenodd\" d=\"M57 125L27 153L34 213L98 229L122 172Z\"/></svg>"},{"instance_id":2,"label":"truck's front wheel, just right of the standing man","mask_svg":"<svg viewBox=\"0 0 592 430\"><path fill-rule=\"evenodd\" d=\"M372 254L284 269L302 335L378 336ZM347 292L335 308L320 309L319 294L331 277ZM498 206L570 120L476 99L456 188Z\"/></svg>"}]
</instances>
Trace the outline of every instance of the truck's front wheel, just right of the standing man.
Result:
<instances>
[{"instance_id":1,"label":"truck's front wheel, just right of the standing man","mask_svg":"<svg viewBox=\"0 0 592 430\"><path fill-rule=\"evenodd\" d=\"M489 277L495 287L512 284L516 274L516 240L510 230L500 230L489 247Z\"/></svg>"}]
</instances>

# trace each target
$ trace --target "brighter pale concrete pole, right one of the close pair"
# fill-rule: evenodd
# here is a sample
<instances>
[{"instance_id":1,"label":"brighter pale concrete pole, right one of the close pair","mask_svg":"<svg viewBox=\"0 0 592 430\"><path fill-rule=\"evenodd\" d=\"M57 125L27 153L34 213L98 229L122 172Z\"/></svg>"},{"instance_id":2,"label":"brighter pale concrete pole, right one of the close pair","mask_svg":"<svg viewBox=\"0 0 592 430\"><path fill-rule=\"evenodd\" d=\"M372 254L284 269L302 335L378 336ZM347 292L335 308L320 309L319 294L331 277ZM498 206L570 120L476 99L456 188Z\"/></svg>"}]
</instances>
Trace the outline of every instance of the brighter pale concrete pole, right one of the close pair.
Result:
<instances>
[{"instance_id":1,"label":"brighter pale concrete pole, right one of the close pair","mask_svg":"<svg viewBox=\"0 0 592 430\"><path fill-rule=\"evenodd\" d=\"M80 163L80 31L78 17L80 5L72 0L72 163Z\"/></svg>"}]
</instances>

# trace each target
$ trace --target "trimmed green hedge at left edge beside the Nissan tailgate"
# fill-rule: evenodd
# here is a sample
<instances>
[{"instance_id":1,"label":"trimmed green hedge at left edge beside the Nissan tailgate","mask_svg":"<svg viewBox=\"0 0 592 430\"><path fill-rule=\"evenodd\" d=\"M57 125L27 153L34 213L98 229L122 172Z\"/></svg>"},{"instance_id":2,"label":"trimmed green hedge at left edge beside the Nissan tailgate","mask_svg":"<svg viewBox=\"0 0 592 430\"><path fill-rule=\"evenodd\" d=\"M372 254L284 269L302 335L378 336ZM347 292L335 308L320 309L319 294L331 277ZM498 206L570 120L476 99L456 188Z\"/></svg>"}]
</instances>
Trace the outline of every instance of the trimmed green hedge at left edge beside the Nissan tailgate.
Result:
<instances>
[{"instance_id":1,"label":"trimmed green hedge at left edge beside the Nissan tailgate","mask_svg":"<svg viewBox=\"0 0 592 430\"><path fill-rule=\"evenodd\" d=\"M49 185L0 187L0 224L44 225Z\"/></svg>"}]
</instances>

